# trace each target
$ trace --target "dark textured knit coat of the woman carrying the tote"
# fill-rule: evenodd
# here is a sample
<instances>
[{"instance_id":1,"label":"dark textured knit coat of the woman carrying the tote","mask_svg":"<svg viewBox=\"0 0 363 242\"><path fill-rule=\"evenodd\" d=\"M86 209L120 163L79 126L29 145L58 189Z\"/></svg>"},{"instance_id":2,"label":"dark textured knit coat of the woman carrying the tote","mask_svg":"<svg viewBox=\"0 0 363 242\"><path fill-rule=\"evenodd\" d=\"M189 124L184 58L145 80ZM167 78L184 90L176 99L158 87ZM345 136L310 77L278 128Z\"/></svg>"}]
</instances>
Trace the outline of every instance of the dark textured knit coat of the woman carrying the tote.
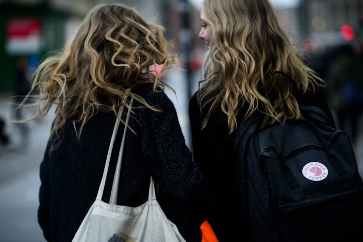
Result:
<instances>
[{"instance_id":1,"label":"dark textured knit coat of the woman carrying the tote","mask_svg":"<svg viewBox=\"0 0 363 242\"><path fill-rule=\"evenodd\" d=\"M133 107L141 108L133 109L129 121L136 134L127 132L118 204L137 207L145 203L152 175L166 216L178 226L187 241L200 241L198 226L203 219L188 217L192 212L186 208L193 205L198 209L204 183L185 144L175 107L164 91L153 92L152 86L133 88L132 92L161 112L141 107L136 101L133 103ZM59 148L49 153L48 143L40 165L38 209L38 222L48 241L71 241L95 201L114 124L114 113L98 112L84 125L79 141L71 121L67 121ZM120 123L109 174L115 171L122 133ZM106 180L102 198L105 202L110 197L112 179Z\"/></svg>"}]
</instances>

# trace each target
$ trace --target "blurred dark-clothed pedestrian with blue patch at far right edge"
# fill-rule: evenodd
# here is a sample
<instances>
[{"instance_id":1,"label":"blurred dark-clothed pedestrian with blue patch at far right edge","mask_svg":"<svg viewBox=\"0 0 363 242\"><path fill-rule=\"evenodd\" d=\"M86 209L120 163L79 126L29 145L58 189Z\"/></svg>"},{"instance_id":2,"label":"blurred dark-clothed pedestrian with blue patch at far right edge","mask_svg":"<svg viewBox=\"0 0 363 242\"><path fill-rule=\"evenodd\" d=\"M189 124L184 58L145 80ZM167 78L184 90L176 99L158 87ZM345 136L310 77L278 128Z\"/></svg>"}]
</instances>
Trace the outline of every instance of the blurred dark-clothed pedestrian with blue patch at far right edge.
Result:
<instances>
[{"instance_id":1,"label":"blurred dark-clothed pedestrian with blue patch at far right edge","mask_svg":"<svg viewBox=\"0 0 363 242\"><path fill-rule=\"evenodd\" d=\"M355 143L363 112L363 61L351 44L338 46L328 69L327 95L339 129Z\"/></svg>"}]
</instances>

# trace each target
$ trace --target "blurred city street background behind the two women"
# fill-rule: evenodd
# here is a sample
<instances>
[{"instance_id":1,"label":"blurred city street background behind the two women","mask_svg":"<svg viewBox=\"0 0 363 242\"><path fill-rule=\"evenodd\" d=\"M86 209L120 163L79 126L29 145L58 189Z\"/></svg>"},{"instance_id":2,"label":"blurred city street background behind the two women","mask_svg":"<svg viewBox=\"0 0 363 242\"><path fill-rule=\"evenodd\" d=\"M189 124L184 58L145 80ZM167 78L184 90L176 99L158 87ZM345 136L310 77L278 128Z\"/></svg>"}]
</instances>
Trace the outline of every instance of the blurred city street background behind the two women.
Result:
<instances>
[{"instance_id":1,"label":"blurred city street background behind the two women","mask_svg":"<svg viewBox=\"0 0 363 242\"><path fill-rule=\"evenodd\" d=\"M113 2L115 2L114 0ZM26 124L31 110L15 110L13 98L28 90L42 57L60 50L82 17L104 0L0 0L0 242L44 242L37 223L39 164L54 110ZM191 147L188 101L201 80L205 43L198 38L201 0L119 0L165 27L179 57L165 75ZM363 174L363 1L271 0L279 21L303 50L306 62L327 82L337 126L352 139Z\"/></svg>"}]
</instances>

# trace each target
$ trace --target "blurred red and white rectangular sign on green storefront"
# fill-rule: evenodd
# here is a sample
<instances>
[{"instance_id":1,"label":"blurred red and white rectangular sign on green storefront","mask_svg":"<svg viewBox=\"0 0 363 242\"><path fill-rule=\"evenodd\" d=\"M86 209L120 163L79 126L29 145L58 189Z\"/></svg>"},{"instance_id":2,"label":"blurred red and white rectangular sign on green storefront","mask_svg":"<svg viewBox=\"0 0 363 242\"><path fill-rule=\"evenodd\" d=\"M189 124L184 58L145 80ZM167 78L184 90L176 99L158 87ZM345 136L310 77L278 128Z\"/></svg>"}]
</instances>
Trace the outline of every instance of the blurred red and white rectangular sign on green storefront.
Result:
<instances>
[{"instance_id":1,"label":"blurred red and white rectangular sign on green storefront","mask_svg":"<svg viewBox=\"0 0 363 242\"><path fill-rule=\"evenodd\" d=\"M13 18L6 25L8 53L36 53L40 50L41 22L33 18Z\"/></svg>"}]
</instances>

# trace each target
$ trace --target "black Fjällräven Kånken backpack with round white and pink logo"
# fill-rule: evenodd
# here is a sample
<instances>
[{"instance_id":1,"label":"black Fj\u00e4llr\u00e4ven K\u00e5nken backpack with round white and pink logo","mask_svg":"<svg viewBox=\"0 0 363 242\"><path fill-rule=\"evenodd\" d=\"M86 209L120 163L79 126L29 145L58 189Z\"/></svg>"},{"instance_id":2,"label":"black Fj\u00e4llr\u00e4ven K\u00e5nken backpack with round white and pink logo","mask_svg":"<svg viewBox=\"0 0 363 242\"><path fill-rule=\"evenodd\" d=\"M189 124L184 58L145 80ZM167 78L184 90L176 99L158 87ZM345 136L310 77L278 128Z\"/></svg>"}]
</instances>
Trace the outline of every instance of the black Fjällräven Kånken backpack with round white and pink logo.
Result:
<instances>
[{"instance_id":1,"label":"black Fj\u00e4llr\u00e4ven K\u00e5nken backpack with round white and pink logo","mask_svg":"<svg viewBox=\"0 0 363 242\"><path fill-rule=\"evenodd\" d=\"M239 185L252 237L362 242L363 182L351 141L319 107L300 111L303 120L263 128L263 115L256 113L236 130Z\"/></svg>"}]
</instances>

